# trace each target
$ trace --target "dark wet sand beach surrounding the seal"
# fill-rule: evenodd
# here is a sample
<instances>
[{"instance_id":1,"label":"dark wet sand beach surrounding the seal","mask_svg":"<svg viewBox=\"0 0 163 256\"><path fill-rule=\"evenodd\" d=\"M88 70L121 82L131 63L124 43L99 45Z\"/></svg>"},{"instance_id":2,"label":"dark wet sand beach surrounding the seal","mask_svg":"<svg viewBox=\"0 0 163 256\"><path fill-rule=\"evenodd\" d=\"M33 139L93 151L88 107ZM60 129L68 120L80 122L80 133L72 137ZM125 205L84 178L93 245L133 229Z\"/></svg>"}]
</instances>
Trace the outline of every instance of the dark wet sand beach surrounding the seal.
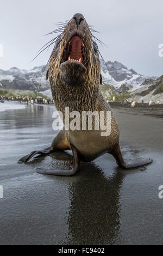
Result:
<instances>
[{"instance_id":1,"label":"dark wet sand beach surrounding the seal","mask_svg":"<svg viewBox=\"0 0 163 256\"><path fill-rule=\"evenodd\" d=\"M0 113L0 244L162 245L162 113L113 109L124 157L151 157L152 164L126 171L104 155L82 163L76 176L59 177L35 169L69 166L68 151L17 163L51 144L57 134L52 129L54 109L37 105Z\"/></svg>"}]
</instances>

